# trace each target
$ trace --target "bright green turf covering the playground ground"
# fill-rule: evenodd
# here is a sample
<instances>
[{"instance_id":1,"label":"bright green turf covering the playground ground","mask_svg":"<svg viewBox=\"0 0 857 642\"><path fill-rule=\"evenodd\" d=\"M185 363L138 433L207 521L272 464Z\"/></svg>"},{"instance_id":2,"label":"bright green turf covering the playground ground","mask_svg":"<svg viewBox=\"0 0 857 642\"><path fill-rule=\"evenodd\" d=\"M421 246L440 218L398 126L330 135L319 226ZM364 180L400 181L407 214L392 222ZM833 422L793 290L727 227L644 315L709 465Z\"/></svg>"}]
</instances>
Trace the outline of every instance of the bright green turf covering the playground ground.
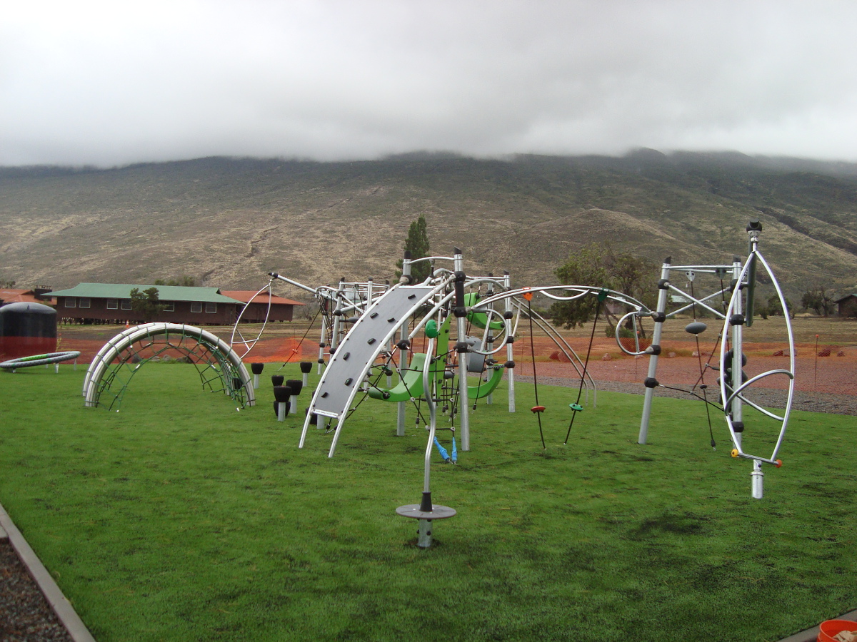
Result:
<instances>
[{"instance_id":1,"label":"bright green turf covering the playground ground","mask_svg":"<svg viewBox=\"0 0 857 642\"><path fill-rule=\"evenodd\" d=\"M321 431L297 449L274 369L241 412L185 365L141 368L119 413L84 407L80 367L0 373L0 502L99 642L748 642L857 606L857 418L794 413L753 500L699 402L656 399L639 446L642 398L600 393L562 446L577 390L542 386L543 451L531 387L510 415L500 385L459 466L434 455L458 515L420 550L394 511L419 502L425 432L367 400L332 460Z\"/></svg>"}]
</instances>

